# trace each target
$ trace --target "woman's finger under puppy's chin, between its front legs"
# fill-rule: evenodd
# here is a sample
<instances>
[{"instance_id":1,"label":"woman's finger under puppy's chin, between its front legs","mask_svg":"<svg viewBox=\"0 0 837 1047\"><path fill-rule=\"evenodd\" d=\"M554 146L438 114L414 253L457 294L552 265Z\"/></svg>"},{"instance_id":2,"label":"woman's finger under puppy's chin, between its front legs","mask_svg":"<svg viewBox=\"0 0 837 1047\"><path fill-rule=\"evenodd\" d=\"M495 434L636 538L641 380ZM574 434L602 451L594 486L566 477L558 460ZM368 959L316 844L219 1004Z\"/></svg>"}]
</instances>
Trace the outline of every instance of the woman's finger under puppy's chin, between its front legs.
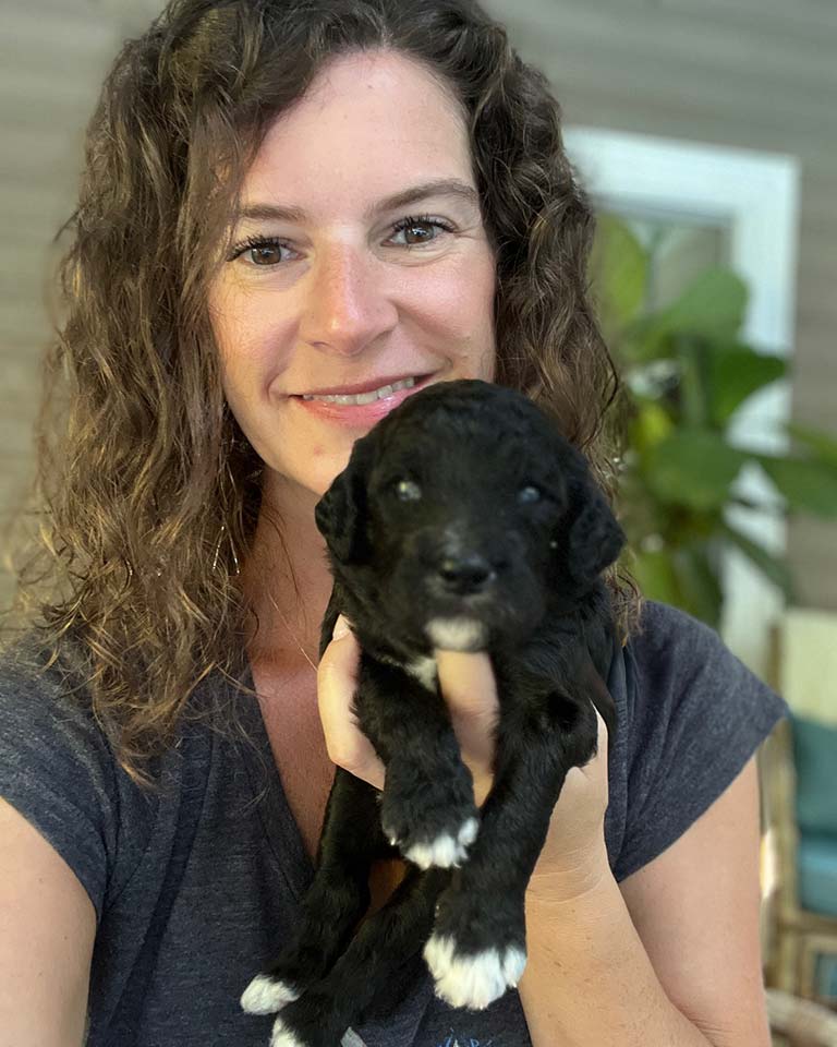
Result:
<instances>
[{"instance_id":1,"label":"woman's finger under puppy's chin, between its front legs","mask_svg":"<svg viewBox=\"0 0 837 1047\"><path fill-rule=\"evenodd\" d=\"M497 684L485 651L434 652L439 687L464 758L490 767L499 715Z\"/></svg>"}]
</instances>

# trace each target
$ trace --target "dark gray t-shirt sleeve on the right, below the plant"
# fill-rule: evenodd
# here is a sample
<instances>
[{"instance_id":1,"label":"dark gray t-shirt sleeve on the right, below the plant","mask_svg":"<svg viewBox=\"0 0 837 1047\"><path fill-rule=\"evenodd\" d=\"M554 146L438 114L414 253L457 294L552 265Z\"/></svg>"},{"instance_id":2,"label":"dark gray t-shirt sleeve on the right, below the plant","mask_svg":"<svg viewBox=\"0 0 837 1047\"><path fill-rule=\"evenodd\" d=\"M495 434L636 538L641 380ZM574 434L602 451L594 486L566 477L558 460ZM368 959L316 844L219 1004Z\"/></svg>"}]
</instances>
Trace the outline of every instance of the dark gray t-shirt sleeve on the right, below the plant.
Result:
<instances>
[{"instance_id":1,"label":"dark gray t-shirt sleeve on the right, below the plant","mask_svg":"<svg viewBox=\"0 0 837 1047\"><path fill-rule=\"evenodd\" d=\"M628 658L633 686L619 880L678 840L788 712L714 629L675 607L644 605Z\"/></svg>"}]
</instances>

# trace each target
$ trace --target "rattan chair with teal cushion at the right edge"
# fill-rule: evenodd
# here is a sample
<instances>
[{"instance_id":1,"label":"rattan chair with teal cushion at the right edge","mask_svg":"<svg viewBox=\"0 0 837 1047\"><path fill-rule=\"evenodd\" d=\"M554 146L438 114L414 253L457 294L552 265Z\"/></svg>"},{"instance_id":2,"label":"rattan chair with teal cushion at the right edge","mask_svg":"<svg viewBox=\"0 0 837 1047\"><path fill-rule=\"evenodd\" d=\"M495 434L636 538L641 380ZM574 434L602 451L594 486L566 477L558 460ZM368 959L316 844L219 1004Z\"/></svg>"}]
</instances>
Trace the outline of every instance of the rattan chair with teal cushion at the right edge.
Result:
<instances>
[{"instance_id":1,"label":"rattan chair with teal cushion at the right edge","mask_svg":"<svg viewBox=\"0 0 837 1047\"><path fill-rule=\"evenodd\" d=\"M767 980L837 1004L837 726L792 715L765 747L778 890Z\"/></svg>"}]
</instances>

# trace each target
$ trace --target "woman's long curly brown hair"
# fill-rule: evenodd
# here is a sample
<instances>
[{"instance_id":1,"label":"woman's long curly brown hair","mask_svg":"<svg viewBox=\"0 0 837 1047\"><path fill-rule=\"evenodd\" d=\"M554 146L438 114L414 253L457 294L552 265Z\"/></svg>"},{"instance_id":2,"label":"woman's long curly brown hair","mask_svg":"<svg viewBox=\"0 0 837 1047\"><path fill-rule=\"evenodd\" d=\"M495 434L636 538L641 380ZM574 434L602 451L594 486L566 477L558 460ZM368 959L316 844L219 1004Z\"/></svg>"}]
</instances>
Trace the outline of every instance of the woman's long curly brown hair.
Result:
<instances>
[{"instance_id":1,"label":"woman's long curly brown hair","mask_svg":"<svg viewBox=\"0 0 837 1047\"><path fill-rule=\"evenodd\" d=\"M207 288L271 121L331 57L373 48L460 99L497 262L495 380L553 411L615 496L620 385L589 294L592 208L548 82L502 26L471 0L173 0L124 45L87 130L23 514L37 533L7 612L52 661L77 641L140 784L198 682L235 675L247 635L233 557L262 462L225 402ZM623 567L608 582L630 631L635 586Z\"/></svg>"}]
</instances>

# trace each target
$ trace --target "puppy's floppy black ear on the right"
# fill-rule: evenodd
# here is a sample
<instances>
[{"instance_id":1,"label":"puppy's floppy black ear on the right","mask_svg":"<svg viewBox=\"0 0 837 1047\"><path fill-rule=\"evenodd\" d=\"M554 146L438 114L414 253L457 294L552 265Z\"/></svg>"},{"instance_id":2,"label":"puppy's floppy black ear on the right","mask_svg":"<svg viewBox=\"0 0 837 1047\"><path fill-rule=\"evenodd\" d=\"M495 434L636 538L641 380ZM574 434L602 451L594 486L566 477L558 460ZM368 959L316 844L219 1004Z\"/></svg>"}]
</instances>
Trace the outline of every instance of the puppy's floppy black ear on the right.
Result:
<instances>
[{"instance_id":1,"label":"puppy's floppy black ear on the right","mask_svg":"<svg viewBox=\"0 0 837 1047\"><path fill-rule=\"evenodd\" d=\"M624 533L586 473L570 480L569 494L567 567L574 581L590 586L619 556Z\"/></svg>"}]
</instances>

